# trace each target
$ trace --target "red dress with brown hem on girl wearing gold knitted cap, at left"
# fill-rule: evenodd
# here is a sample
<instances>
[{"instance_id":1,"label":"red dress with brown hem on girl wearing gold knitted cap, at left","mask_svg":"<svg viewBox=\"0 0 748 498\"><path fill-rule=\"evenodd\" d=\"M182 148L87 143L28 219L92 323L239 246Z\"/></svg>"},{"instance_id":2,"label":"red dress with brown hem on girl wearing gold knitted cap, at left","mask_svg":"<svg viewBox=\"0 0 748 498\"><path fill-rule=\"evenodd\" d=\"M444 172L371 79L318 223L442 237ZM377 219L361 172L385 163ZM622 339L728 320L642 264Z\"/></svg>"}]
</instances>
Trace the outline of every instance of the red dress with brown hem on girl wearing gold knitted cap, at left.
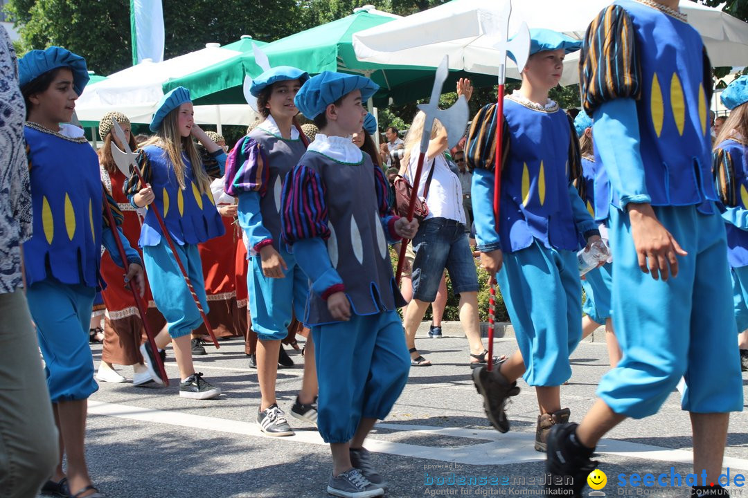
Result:
<instances>
[{"instance_id":1,"label":"red dress with brown hem on girl wearing gold knitted cap, at left","mask_svg":"<svg viewBox=\"0 0 748 498\"><path fill-rule=\"evenodd\" d=\"M124 215L121 226L122 232L129 240L130 246L138 248L141 222L135 208L130 205L122 191L126 177L119 169L114 172L108 172L104 166L100 166L100 169L102 182L120 205L120 210ZM140 249L138 249L138 252L141 252ZM146 336L138 308L136 308L135 300L132 298L132 292L122 284L124 273L125 270L114 264L108 252L102 255L101 275L107 282L106 289L102 291L107 310L104 320L102 361L118 365L133 365L142 361L139 348ZM144 301L148 303L146 317L148 324L153 333L158 334L166 320L156 309L147 283Z\"/></svg>"}]
</instances>

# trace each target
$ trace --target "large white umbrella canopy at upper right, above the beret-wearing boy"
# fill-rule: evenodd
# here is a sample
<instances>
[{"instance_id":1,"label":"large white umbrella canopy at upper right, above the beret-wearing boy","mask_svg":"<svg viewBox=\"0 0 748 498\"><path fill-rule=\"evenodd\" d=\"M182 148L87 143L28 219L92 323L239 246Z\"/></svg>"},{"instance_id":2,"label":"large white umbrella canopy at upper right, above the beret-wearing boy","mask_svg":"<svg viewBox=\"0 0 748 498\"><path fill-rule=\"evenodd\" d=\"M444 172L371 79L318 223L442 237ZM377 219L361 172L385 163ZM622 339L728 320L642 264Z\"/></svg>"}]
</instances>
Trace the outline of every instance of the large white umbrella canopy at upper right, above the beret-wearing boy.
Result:
<instances>
[{"instance_id":1,"label":"large white umbrella canopy at upper right, above the beret-wearing boy","mask_svg":"<svg viewBox=\"0 0 748 498\"><path fill-rule=\"evenodd\" d=\"M490 40L482 36L480 19L500 19L503 2L508 0L453 0L384 25L353 35L358 60L397 65L438 66L444 55L450 56L450 69L496 75L496 52ZM610 0L521 0L512 2L509 36L521 22L530 28L560 31L582 40L587 26ZM743 66L748 60L748 23L721 10L682 1L681 11L702 35L714 66ZM561 84L579 81L578 52L565 59ZM516 66L509 62L507 75L519 78Z\"/></svg>"}]
</instances>

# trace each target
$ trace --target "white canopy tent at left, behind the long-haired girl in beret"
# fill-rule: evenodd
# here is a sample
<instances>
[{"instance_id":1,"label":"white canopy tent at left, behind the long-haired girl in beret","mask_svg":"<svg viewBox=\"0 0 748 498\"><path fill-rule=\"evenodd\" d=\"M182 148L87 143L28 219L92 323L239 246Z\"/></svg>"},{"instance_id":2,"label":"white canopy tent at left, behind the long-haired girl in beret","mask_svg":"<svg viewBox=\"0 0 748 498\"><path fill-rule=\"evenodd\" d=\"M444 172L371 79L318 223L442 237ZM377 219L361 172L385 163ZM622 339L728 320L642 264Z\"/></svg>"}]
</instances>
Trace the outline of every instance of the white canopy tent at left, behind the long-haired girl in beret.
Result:
<instances>
[{"instance_id":1,"label":"white canopy tent at left, behind the long-haired girl in beret","mask_svg":"<svg viewBox=\"0 0 748 498\"><path fill-rule=\"evenodd\" d=\"M149 123L164 95L162 85L165 81L241 54L221 48L218 43L208 43L204 49L160 63L144 60L85 87L76 102L76 113L81 121L99 121L108 111L120 111L132 122ZM216 124L219 132L221 125L248 125L257 117L249 105L199 105L194 108L197 124Z\"/></svg>"}]
</instances>

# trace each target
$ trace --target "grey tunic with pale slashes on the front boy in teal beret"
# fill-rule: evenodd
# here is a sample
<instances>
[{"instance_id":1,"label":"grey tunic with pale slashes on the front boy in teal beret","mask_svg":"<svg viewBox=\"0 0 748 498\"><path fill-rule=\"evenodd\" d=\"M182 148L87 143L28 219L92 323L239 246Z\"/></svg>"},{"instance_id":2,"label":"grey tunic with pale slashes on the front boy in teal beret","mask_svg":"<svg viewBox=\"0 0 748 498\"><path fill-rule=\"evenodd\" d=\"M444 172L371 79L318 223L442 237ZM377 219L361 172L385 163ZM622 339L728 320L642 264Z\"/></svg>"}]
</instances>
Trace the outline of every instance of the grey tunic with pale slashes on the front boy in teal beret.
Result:
<instances>
[{"instance_id":1,"label":"grey tunic with pale slashes on the front boy in teal beret","mask_svg":"<svg viewBox=\"0 0 748 498\"><path fill-rule=\"evenodd\" d=\"M405 306L395 283L387 237L379 214L374 166L369 155L360 164L344 164L318 152L299 161L319 173L328 209L328 255L340 278L353 313L370 315ZM327 302L310 292L309 325L334 323Z\"/></svg>"}]
</instances>

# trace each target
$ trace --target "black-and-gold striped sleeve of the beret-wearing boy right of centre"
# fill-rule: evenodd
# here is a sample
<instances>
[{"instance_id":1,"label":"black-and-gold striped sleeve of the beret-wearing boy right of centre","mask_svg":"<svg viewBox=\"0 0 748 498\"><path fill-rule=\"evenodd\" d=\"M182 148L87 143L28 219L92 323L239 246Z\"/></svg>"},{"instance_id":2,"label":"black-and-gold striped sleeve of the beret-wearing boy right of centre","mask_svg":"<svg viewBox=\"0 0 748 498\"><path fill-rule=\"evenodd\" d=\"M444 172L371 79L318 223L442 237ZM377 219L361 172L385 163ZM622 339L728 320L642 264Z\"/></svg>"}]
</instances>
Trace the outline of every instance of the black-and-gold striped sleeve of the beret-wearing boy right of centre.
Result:
<instances>
[{"instance_id":1,"label":"black-and-gold striped sleeve of the beret-wearing boy right of centre","mask_svg":"<svg viewBox=\"0 0 748 498\"><path fill-rule=\"evenodd\" d=\"M488 169L493 171L496 161L496 104L485 105L473 117L468 131L468 141L465 143L465 161L468 169ZM509 125L503 120L501 141L501 169L503 171L506 158L509 155Z\"/></svg>"}]
</instances>

